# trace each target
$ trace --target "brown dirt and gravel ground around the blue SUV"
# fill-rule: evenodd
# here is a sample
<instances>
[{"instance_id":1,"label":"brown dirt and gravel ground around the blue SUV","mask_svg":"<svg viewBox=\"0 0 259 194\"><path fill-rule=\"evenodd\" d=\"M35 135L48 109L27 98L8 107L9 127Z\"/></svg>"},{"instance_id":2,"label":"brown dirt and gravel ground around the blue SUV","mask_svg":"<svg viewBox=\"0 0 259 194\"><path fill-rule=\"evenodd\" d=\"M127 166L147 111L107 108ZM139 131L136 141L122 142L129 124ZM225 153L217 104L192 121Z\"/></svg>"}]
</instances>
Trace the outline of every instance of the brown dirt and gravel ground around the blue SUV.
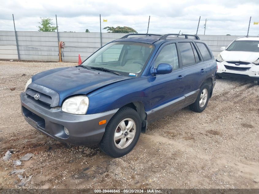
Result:
<instances>
[{"instance_id":1,"label":"brown dirt and gravel ground around the blue SUV","mask_svg":"<svg viewBox=\"0 0 259 194\"><path fill-rule=\"evenodd\" d=\"M150 124L126 156L70 146L43 135L21 115L19 94L33 75L76 63L0 61L0 188L259 188L259 86L217 80L207 108L184 108ZM15 89L14 89L15 88ZM14 90L11 90L14 89ZM14 149L11 159L2 160ZM31 159L14 166L27 153Z\"/></svg>"}]
</instances>

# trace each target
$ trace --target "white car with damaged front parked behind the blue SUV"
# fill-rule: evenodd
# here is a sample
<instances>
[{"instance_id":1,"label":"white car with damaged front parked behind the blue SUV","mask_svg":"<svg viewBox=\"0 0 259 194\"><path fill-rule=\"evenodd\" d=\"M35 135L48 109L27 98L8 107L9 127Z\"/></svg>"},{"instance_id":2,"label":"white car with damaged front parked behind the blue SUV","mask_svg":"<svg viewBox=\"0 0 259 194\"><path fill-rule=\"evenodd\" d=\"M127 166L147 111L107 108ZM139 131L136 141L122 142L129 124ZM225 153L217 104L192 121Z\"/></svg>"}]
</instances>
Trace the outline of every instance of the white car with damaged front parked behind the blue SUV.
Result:
<instances>
[{"instance_id":1,"label":"white car with damaged front parked behind the blue SUV","mask_svg":"<svg viewBox=\"0 0 259 194\"><path fill-rule=\"evenodd\" d=\"M220 49L216 78L244 77L259 85L259 38L240 37Z\"/></svg>"}]
</instances>

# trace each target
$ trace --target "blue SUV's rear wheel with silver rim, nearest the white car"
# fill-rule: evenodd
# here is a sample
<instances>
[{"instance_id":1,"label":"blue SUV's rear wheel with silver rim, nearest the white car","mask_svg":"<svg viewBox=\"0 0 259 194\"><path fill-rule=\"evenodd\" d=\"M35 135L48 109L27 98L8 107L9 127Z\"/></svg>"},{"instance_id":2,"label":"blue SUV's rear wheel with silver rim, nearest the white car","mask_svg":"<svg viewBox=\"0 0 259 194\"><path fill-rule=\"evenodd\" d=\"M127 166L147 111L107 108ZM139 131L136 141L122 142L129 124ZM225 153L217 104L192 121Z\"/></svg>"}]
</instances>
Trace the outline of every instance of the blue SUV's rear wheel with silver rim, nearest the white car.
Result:
<instances>
[{"instance_id":1,"label":"blue SUV's rear wheel with silver rim, nearest the white car","mask_svg":"<svg viewBox=\"0 0 259 194\"><path fill-rule=\"evenodd\" d=\"M206 92L206 90L207 90L206 101L205 101L205 98L203 98L204 100L200 104L201 94L204 95L204 92ZM198 94L198 97L196 98L196 101L190 105L190 109L193 110L194 112L204 111L204 109L206 108L206 106L208 104L209 98L210 98L210 91L211 91L210 86L208 84L203 84L200 87L200 92Z\"/></svg>"}]
</instances>

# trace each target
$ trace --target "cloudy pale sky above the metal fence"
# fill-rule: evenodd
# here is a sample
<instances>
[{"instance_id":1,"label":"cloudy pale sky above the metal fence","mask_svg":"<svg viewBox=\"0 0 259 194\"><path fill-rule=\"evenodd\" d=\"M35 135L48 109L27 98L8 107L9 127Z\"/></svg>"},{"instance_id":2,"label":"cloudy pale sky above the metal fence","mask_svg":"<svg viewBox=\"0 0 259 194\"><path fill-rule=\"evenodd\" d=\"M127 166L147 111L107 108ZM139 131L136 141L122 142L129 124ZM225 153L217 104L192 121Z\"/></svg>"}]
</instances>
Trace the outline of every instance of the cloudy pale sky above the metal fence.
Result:
<instances>
[{"instance_id":1,"label":"cloudy pale sky above the metal fence","mask_svg":"<svg viewBox=\"0 0 259 194\"><path fill-rule=\"evenodd\" d=\"M59 31L102 32L106 26L128 26L138 33L188 33L206 35L259 35L259 0L0 0L0 30L38 31L40 17L49 17ZM104 22L103 20L107 20Z\"/></svg>"}]
</instances>

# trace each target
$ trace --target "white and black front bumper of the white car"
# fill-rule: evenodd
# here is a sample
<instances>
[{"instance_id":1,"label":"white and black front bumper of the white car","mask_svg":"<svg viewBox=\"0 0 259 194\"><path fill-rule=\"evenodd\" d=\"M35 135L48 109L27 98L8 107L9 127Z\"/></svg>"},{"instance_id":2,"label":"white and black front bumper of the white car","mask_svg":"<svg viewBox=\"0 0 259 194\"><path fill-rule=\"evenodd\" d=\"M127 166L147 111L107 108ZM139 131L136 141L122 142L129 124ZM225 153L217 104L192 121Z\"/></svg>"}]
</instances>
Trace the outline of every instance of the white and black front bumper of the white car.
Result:
<instances>
[{"instance_id":1,"label":"white and black front bumper of the white car","mask_svg":"<svg viewBox=\"0 0 259 194\"><path fill-rule=\"evenodd\" d=\"M227 63L225 61L223 62L217 62L218 64L218 70L217 74L221 77L243 77L249 80L259 80L259 65L255 64L248 64L248 65L239 65L236 66L231 63ZM240 71L240 70L230 70L225 67L225 65L230 67L250 67L249 70L246 71Z\"/></svg>"}]
</instances>

